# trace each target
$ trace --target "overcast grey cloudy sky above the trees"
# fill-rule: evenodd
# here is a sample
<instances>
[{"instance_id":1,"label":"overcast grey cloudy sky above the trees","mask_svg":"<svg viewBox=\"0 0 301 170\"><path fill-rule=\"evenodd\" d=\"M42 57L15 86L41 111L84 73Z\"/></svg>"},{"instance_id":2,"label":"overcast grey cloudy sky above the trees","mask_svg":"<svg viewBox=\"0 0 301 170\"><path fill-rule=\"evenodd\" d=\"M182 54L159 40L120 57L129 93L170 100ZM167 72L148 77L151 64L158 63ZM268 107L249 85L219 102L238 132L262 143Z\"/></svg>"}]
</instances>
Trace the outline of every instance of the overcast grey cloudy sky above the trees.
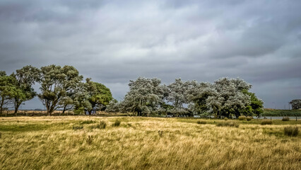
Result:
<instances>
[{"instance_id":1,"label":"overcast grey cloudy sky above the trees","mask_svg":"<svg viewBox=\"0 0 301 170\"><path fill-rule=\"evenodd\" d=\"M139 76L240 77L265 108L288 109L301 98L300 8L297 0L1 0L0 70L72 65L118 101ZM43 106L35 98L21 109L30 108Z\"/></svg>"}]
</instances>

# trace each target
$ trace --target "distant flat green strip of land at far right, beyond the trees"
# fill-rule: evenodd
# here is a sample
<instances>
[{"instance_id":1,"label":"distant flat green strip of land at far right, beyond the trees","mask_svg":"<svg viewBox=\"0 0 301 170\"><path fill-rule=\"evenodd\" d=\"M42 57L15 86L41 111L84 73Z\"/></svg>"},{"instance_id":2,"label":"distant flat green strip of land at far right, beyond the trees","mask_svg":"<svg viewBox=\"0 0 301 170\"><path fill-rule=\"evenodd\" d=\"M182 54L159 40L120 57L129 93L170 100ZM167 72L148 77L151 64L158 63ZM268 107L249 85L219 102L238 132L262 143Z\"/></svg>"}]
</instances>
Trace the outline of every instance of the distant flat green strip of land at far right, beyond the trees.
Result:
<instances>
[{"instance_id":1,"label":"distant flat green strip of land at far right, beyond the trees","mask_svg":"<svg viewBox=\"0 0 301 170\"><path fill-rule=\"evenodd\" d=\"M278 110L265 108L262 116L301 116L301 110Z\"/></svg>"}]
</instances>

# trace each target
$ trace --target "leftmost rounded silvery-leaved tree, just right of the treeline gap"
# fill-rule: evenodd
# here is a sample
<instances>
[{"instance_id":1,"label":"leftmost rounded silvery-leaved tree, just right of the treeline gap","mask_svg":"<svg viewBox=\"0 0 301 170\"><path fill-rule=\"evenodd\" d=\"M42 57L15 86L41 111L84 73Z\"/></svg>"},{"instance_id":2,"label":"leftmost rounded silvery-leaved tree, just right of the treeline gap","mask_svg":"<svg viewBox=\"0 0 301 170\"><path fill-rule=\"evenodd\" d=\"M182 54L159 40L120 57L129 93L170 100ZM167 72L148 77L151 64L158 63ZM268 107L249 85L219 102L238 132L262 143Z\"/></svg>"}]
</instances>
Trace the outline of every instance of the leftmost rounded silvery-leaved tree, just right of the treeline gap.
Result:
<instances>
[{"instance_id":1,"label":"leftmost rounded silvery-leaved tree, just right of the treeline gap","mask_svg":"<svg viewBox=\"0 0 301 170\"><path fill-rule=\"evenodd\" d=\"M161 85L160 79L138 77L129 82L129 91L122 102L123 111L149 115L158 111L160 104L164 103L164 96L165 86Z\"/></svg>"}]
</instances>

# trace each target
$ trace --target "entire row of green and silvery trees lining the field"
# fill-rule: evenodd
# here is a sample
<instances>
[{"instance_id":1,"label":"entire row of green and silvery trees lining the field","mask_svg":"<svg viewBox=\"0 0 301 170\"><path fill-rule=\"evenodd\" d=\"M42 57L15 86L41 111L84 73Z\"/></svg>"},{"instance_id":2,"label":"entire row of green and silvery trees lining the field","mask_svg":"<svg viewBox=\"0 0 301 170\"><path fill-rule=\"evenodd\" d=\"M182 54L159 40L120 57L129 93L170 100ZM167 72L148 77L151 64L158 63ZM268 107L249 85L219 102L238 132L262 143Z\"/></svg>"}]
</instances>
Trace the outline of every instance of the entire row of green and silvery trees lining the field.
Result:
<instances>
[{"instance_id":1,"label":"entire row of green and silvery trees lining the field","mask_svg":"<svg viewBox=\"0 0 301 170\"><path fill-rule=\"evenodd\" d=\"M40 93L33 89L40 84ZM130 80L123 101L112 98L110 89L85 79L72 66L49 65L40 69L25 66L16 73L0 72L0 115L8 108L18 108L37 96L52 115L72 110L76 114L93 111L136 113L136 115L191 116L214 115L238 118L240 115L260 115L263 102L249 92L252 85L242 79L222 78L214 83L182 81L165 85L160 79L138 77Z\"/></svg>"}]
</instances>

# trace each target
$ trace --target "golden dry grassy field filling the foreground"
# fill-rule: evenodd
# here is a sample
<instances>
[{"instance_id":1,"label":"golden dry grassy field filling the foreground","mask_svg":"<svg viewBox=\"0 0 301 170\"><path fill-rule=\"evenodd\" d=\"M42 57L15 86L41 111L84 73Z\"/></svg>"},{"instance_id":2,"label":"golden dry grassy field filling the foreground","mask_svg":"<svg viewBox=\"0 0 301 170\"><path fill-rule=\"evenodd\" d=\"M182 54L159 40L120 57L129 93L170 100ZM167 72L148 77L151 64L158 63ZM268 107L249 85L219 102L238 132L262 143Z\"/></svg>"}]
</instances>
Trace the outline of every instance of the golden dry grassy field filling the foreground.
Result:
<instances>
[{"instance_id":1,"label":"golden dry grassy field filling the foreground","mask_svg":"<svg viewBox=\"0 0 301 170\"><path fill-rule=\"evenodd\" d=\"M120 120L119 126L115 121ZM300 169L301 120L0 118L0 169ZM106 123L105 129L100 126ZM228 122L230 120L227 120ZM118 124L118 123L117 123ZM90 137L90 140L88 140Z\"/></svg>"}]
</instances>

